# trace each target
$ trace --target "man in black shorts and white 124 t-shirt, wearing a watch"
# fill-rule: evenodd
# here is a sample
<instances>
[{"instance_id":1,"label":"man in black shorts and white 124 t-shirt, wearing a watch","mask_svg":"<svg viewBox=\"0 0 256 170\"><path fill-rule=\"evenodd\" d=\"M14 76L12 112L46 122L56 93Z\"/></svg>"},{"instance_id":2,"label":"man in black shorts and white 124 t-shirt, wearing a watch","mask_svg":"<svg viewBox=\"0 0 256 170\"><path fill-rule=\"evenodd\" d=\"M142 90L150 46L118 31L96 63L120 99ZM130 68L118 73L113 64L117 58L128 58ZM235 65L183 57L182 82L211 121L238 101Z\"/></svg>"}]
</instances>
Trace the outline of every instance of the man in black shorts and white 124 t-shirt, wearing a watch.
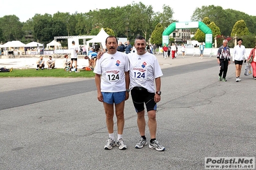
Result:
<instances>
[{"instance_id":1,"label":"man in black shorts and white 124 t-shirt, wearing a watch","mask_svg":"<svg viewBox=\"0 0 256 170\"><path fill-rule=\"evenodd\" d=\"M135 148L142 148L148 144L146 140L145 110L148 112L148 127L150 132L149 148L164 151L164 146L156 139L157 134L157 103L161 97L161 79L163 75L155 55L146 52L146 40L143 36L135 38L137 53L128 54L130 61L130 89L135 111L137 112L137 125L141 139ZM154 88L155 81L155 88Z\"/></svg>"}]
</instances>

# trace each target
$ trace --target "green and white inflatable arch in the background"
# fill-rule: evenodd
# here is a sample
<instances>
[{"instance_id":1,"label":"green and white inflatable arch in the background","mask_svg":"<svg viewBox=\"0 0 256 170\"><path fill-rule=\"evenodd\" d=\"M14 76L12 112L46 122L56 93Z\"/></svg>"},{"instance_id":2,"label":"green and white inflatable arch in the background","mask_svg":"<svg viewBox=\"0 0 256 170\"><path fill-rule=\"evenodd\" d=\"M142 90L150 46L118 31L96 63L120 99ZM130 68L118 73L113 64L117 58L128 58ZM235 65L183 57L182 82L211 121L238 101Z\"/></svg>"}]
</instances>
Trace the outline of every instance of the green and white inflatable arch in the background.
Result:
<instances>
[{"instance_id":1,"label":"green and white inflatable arch in the background","mask_svg":"<svg viewBox=\"0 0 256 170\"><path fill-rule=\"evenodd\" d=\"M169 25L162 34L162 44L169 44L169 35L175 31L175 29L183 28L199 28L205 33L205 48L212 48L212 30L201 21L194 22L173 22Z\"/></svg>"}]
</instances>

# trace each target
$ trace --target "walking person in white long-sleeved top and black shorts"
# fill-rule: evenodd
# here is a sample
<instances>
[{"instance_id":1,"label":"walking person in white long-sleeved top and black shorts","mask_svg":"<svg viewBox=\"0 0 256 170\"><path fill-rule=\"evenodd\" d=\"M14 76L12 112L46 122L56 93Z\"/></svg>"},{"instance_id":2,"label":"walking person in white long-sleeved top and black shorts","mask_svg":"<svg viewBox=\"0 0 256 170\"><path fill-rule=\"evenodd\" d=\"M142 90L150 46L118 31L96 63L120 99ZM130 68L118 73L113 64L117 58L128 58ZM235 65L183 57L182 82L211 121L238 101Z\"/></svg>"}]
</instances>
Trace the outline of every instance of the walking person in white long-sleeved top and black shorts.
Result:
<instances>
[{"instance_id":1,"label":"walking person in white long-sleeved top and black shorts","mask_svg":"<svg viewBox=\"0 0 256 170\"><path fill-rule=\"evenodd\" d=\"M246 50L244 45L242 45L243 40L242 38L237 39L237 45L234 47L234 55L232 57L233 63L235 63L235 81L239 82L240 74L241 74L241 68L243 65L244 59L247 59L246 56Z\"/></svg>"}]
</instances>

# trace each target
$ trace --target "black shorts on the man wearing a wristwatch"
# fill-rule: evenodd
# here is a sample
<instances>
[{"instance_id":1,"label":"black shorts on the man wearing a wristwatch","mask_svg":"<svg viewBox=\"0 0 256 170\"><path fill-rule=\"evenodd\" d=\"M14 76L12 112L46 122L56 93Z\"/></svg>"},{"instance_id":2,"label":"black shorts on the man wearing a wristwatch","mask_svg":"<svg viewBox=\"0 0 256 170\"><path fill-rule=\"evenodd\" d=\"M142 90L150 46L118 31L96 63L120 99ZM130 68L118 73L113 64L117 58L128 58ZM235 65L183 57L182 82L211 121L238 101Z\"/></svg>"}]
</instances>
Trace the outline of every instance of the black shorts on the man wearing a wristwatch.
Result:
<instances>
[{"instance_id":1,"label":"black shorts on the man wearing a wristwatch","mask_svg":"<svg viewBox=\"0 0 256 170\"><path fill-rule=\"evenodd\" d=\"M149 93L145 88L134 87L131 95L136 112L144 111L144 103L147 111L157 110L157 103L154 101L155 93Z\"/></svg>"}]
</instances>

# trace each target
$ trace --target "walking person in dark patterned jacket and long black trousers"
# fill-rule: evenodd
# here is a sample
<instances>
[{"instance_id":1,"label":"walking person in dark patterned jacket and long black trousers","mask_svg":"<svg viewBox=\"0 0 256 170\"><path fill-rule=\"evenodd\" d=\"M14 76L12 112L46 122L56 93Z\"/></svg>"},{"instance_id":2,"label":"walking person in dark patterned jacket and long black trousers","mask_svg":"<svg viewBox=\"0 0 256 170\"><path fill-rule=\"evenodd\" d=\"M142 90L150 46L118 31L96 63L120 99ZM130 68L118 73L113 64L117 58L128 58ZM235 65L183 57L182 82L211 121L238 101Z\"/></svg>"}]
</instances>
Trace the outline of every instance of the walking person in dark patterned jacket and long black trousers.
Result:
<instances>
[{"instance_id":1,"label":"walking person in dark patterned jacket and long black trousers","mask_svg":"<svg viewBox=\"0 0 256 170\"><path fill-rule=\"evenodd\" d=\"M230 65L230 49L228 47L228 40L223 40L223 45L219 47L217 52L217 61L219 64L219 81L225 82L228 65Z\"/></svg>"}]
</instances>

